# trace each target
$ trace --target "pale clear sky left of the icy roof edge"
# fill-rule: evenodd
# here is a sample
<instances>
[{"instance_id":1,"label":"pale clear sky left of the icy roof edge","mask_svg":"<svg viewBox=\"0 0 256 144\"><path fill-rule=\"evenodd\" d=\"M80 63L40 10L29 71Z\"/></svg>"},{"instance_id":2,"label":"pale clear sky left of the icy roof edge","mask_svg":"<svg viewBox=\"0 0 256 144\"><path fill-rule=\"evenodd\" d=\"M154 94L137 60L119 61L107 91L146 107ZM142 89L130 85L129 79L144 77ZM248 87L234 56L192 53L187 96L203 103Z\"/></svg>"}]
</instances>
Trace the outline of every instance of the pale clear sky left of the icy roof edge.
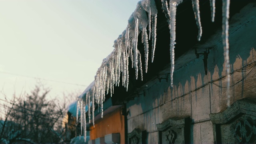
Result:
<instances>
[{"instance_id":1,"label":"pale clear sky left of the icy roof edge","mask_svg":"<svg viewBox=\"0 0 256 144\"><path fill-rule=\"evenodd\" d=\"M0 0L0 98L30 92L38 80L29 77L48 80L41 82L51 88L51 98L82 93L137 2Z\"/></svg>"}]
</instances>

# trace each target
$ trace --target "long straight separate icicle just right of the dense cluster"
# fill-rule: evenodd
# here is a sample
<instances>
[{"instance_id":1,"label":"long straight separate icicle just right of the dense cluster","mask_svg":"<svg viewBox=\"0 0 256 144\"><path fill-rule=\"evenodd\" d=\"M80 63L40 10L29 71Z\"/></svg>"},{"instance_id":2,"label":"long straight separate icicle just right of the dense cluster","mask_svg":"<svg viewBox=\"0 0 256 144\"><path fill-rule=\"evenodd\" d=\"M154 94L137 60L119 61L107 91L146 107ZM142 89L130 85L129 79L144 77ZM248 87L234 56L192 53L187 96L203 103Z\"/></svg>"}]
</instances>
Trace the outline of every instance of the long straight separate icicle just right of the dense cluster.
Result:
<instances>
[{"instance_id":1,"label":"long straight separate icicle just right of the dense cluster","mask_svg":"<svg viewBox=\"0 0 256 144\"><path fill-rule=\"evenodd\" d=\"M170 1L170 54L171 54L171 86L173 86L173 72L174 72L174 48L176 40L176 10L177 2Z\"/></svg>"}]
</instances>

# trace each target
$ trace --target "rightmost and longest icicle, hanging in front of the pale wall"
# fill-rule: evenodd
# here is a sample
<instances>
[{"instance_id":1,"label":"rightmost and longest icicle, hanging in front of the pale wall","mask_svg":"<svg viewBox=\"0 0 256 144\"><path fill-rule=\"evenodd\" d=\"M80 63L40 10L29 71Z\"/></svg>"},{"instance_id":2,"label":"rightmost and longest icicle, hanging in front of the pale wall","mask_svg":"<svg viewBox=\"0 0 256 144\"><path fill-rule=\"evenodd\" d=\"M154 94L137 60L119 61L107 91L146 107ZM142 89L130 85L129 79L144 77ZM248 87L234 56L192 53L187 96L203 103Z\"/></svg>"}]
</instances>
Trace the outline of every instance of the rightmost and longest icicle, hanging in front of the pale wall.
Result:
<instances>
[{"instance_id":1,"label":"rightmost and longest icicle, hanging in front of the pale wall","mask_svg":"<svg viewBox=\"0 0 256 144\"><path fill-rule=\"evenodd\" d=\"M230 64L229 64L229 43L228 43L228 19L229 19L230 0L222 0L222 41L224 47L224 59L226 66L226 83L227 83L227 97L228 107L230 107Z\"/></svg>"}]
</instances>

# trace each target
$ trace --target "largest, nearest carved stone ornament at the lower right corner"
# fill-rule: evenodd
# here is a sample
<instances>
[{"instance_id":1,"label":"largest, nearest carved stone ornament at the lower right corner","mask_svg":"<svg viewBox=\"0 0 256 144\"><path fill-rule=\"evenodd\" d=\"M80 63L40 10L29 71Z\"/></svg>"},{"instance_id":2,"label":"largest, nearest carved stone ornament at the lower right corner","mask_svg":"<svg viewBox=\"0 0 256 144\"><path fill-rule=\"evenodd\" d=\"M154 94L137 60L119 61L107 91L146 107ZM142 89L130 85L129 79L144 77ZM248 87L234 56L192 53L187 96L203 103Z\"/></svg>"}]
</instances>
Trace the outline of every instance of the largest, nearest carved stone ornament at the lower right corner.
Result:
<instances>
[{"instance_id":1,"label":"largest, nearest carved stone ornament at the lower right corner","mask_svg":"<svg viewBox=\"0 0 256 144\"><path fill-rule=\"evenodd\" d=\"M214 143L255 143L256 102L238 100L223 112L210 114Z\"/></svg>"}]
</instances>

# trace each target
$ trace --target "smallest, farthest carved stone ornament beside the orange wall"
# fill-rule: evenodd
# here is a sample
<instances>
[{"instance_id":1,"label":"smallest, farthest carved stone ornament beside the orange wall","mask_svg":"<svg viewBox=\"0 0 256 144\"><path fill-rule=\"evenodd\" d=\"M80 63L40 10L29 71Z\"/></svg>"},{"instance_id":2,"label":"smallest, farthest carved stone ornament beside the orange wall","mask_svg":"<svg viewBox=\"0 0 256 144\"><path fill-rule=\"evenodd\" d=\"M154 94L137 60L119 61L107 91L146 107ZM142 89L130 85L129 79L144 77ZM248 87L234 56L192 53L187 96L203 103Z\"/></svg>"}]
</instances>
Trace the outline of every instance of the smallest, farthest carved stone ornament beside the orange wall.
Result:
<instances>
[{"instance_id":1,"label":"smallest, farthest carved stone ornament beside the orange wall","mask_svg":"<svg viewBox=\"0 0 256 144\"><path fill-rule=\"evenodd\" d=\"M128 144L144 144L146 140L145 131L135 128L132 132L128 133Z\"/></svg>"}]
</instances>

